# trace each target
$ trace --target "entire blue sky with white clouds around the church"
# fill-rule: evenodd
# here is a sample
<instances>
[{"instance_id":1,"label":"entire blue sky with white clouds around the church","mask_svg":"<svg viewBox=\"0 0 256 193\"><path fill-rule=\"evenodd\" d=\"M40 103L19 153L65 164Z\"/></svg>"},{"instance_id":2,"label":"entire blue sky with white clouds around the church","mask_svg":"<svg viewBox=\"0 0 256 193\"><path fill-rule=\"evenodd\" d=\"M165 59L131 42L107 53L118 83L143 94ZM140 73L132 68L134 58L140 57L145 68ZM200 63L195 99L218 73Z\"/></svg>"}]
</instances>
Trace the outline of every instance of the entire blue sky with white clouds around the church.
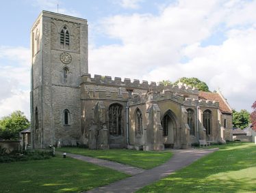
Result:
<instances>
[{"instance_id":1,"label":"entire blue sky with white clouds around the church","mask_svg":"<svg viewBox=\"0 0 256 193\"><path fill-rule=\"evenodd\" d=\"M0 7L0 117L29 117L30 28L42 10L86 18L89 72L158 82L197 77L232 108L256 100L256 1L10 0ZM118 69L118 70L116 70Z\"/></svg>"}]
</instances>

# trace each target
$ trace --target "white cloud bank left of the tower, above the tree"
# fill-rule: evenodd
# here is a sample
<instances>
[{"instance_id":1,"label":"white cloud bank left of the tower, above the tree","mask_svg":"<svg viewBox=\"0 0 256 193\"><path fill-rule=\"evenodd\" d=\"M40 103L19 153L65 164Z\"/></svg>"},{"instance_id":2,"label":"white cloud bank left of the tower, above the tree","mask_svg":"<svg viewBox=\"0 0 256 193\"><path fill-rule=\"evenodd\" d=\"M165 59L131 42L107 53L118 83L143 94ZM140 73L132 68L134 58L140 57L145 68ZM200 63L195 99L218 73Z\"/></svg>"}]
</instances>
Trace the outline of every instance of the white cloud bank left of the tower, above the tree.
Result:
<instances>
[{"instance_id":1,"label":"white cloud bank left of the tower, above the tree","mask_svg":"<svg viewBox=\"0 0 256 193\"><path fill-rule=\"evenodd\" d=\"M29 116L30 65L28 48L0 47L0 117L14 110Z\"/></svg>"}]
</instances>

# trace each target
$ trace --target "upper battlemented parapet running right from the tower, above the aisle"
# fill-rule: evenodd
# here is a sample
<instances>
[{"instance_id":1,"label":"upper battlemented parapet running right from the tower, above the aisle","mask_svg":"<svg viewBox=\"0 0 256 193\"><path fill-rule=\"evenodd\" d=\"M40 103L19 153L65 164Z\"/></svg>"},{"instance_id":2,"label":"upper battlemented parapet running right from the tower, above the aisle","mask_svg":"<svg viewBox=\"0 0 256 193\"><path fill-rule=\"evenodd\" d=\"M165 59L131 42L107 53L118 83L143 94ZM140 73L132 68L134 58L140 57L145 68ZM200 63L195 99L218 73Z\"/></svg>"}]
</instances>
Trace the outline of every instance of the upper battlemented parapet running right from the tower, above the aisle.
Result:
<instances>
[{"instance_id":1,"label":"upper battlemented parapet running right from the tower, above the aisle","mask_svg":"<svg viewBox=\"0 0 256 193\"><path fill-rule=\"evenodd\" d=\"M119 77L111 76L101 76L95 74L92 77L90 74L84 74L81 76L81 84L94 84L94 85L104 85L104 86L111 86L111 87L126 87L127 89L144 89L147 91L162 91L164 89L168 89L174 93L188 93L188 94L195 94L199 93L199 89L190 87L187 85L167 85L164 86L162 84L157 85L155 82L151 82L149 84L148 81L142 80L133 80L131 82L130 78L125 78L123 81Z\"/></svg>"}]
</instances>

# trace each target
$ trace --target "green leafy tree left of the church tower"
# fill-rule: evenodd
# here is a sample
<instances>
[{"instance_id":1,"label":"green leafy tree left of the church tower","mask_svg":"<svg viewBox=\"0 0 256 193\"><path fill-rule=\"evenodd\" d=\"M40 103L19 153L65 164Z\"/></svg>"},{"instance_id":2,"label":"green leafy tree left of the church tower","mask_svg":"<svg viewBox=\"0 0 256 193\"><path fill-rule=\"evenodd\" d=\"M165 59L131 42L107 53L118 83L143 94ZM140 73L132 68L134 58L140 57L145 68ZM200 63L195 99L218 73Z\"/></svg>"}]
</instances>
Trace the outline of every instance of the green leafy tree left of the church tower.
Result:
<instances>
[{"instance_id":1,"label":"green leafy tree left of the church tower","mask_svg":"<svg viewBox=\"0 0 256 193\"><path fill-rule=\"evenodd\" d=\"M16 110L0 120L0 138L16 140L18 133L27 129L29 124L24 113L21 110Z\"/></svg>"}]
</instances>

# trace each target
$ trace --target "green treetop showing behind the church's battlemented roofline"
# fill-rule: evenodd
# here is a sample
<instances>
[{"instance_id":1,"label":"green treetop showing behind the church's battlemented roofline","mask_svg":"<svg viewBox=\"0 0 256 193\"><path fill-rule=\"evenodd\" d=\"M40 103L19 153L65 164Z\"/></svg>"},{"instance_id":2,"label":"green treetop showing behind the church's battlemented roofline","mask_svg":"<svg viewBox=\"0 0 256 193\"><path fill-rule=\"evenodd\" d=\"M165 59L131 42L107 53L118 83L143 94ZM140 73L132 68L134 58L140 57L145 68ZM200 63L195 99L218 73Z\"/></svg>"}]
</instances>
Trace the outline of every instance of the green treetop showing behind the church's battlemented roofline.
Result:
<instances>
[{"instance_id":1,"label":"green treetop showing behind the church's battlemented roofline","mask_svg":"<svg viewBox=\"0 0 256 193\"><path fill-rule=\"evenodd\" d=\"M179 78L179 80L175 82L175 85L177 85L179 82L185 83L186 85L190 85L192 87L196 87L199 89L199 91L209 92L209 87L207 86L207 84L202 80L199 80L199 78Z\"/></svg>"}]
</instances>

